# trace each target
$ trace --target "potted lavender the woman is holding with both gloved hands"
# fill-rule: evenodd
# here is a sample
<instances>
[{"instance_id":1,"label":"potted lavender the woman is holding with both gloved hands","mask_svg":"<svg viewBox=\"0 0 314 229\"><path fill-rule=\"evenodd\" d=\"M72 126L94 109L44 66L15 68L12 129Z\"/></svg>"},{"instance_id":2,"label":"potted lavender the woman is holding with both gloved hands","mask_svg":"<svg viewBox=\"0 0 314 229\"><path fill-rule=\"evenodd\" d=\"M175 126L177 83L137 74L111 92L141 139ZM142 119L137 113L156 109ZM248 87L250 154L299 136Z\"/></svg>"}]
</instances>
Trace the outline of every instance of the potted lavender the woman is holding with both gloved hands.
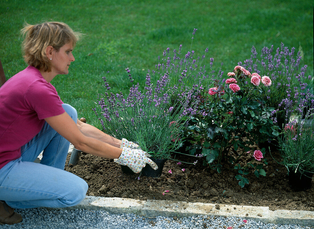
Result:
<instances>
[{"instance_id":1,"label":"potted lavender the woman is holding with both gloved hands","mask_svg":"<svg viewBox=\"0 0 314 229\"><path fill-rule=\"evenodd\" d=\"M133 82L130 70L126 70ZM187 107L193 101L192 93L179 85L176 89L170 87L167 72L156 84L151 83L150 74L147 73L143 92L137 83L130 88L126 98L122 93L111 93L106 77L103 80L106 92L100 94L95 103L98 112L94 109L103 131L118 139L127 138L138 143L157 165L159 163L159 170L152 170L153 173L148 174L143 169L142 174L160 176L163 163L180 146L182 129L193 114L193 110ZM170 103L172 94L177 95L177 100Z\"/></svg>"}]
</instances>

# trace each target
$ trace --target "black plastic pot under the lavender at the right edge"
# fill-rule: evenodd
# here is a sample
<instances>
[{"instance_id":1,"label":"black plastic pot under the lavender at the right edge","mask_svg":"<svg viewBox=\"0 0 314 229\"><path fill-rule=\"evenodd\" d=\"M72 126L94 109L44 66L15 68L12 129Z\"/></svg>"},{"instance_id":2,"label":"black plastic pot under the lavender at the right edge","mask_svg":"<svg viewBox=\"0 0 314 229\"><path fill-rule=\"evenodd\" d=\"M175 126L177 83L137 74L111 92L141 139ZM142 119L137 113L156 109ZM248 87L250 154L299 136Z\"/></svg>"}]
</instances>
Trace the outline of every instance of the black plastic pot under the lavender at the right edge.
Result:
<instances>
[{"instance_id":1,"label":"black plastic pot under the lavender at the right edge","mask_svg":"<svg viewBox=\"0 0 314 229\"><path fill-rule=\"evenodd\" d=\"M296 172L293 168L288 171L288 183L291 189L295 191L304 191L312 186L313 173L311 172Z\"/></svg>"}]
</instances>

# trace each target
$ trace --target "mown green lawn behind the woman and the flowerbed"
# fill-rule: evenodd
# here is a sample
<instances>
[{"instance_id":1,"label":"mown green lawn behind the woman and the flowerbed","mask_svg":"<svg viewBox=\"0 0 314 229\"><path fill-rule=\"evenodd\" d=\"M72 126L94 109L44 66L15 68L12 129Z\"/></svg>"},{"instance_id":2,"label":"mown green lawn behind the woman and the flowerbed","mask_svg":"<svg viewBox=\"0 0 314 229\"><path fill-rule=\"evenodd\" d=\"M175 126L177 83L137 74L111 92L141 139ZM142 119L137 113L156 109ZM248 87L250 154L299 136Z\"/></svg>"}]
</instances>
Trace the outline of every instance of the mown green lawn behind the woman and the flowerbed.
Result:
<instances>
[{"instance_id":1,"label":"mown green lawn behind the woman and the flowerbed","mask_svg":"<svg viewBox=\"0 0 314 229\"><path fill-rule=\"evenodd\" d=\"M0 0L0 58L7 79L23 70L19 30L24 20L36 24L45 20L63 21L85 34L73 52L76 61L68 75L51 82L65 103L78 110L79 117L100 128L91 110L98 93L103 92L102 76L112 91L126 93L135 82L143 82L147 69L154 69L157 57L167 47L197 56L209 48L205 64L214 58L214 67L224 65L230 72L238 61L274 45L299 47L304 64L313 75L313 2L279 0L221 1L100 1Z\"/></svg>"}]
</instances>

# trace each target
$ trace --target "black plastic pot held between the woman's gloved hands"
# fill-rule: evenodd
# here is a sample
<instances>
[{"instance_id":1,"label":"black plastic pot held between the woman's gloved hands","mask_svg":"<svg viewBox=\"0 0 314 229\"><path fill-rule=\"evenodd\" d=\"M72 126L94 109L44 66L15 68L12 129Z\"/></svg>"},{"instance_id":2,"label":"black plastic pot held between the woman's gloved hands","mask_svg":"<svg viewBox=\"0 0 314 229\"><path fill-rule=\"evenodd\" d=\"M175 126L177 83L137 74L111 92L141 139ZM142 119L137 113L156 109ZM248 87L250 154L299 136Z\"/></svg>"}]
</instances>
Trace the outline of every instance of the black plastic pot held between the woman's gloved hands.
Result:
<instances>
[{"instance_id":1,"label":"black plastic pot held between the woman's gloved hands","mask_svg":"<svg viewBox=\"0 0 314 229\"><path fill-rule=\"evenodd\" d=\"M158 169L154 170L152 167L150 167L149 164L146 164L146 166L142 169L142 173L138 173L138 174L141 174L141 176L145 176L145 177L160 177L167 159L155 159L155 158L150 158L150 159L157 164ZM134 172L126 165L121 165L121 169L123 173L134 174Z\"/></svg>"}]
</instances>

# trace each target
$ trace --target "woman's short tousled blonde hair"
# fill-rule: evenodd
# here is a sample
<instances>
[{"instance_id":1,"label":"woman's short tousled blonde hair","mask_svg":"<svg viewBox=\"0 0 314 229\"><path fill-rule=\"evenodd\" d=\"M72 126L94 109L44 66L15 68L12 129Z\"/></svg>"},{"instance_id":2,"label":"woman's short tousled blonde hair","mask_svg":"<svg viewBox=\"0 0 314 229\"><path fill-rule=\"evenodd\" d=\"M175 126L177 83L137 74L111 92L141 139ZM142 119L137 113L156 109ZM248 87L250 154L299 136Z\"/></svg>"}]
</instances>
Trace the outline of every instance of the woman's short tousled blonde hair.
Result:
<instances>
[{"instance_id":1,"label":"woman's short tousled blonde hair","mask_svg":"<svg viewBox=\"0 0 314 229\"><path fill-rule=\"evenodd\" d=\"M82 36L79 32L74 32L67 24L62 22L44 22L31 25L25 22L21 34L25 36L22 43L24 60L30 66L43 69L45 72L51 71L51 64L46 56L46 48L52 46L59 49L72 41L73 48Z\"/></svg>"}]
</instances>

